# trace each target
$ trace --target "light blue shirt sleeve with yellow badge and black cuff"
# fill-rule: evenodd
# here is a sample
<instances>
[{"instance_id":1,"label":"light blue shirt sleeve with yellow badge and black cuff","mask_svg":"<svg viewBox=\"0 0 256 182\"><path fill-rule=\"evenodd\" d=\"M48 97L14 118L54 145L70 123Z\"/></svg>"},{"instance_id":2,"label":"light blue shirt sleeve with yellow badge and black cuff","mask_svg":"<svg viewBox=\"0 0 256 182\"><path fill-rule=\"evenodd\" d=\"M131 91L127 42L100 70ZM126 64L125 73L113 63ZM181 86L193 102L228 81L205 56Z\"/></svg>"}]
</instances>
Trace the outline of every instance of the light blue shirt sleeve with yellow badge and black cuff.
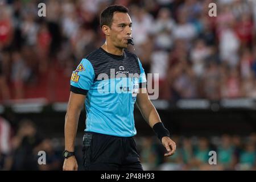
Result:
<instances>
[{"instance_id":1,"label":"light blue shirt sleeve with yellow badge and black cuff","mask_svg":"<svg viewBox=\"0 0 256 182\"><path fill-rule=\"evenodd\" d=\"M86 95L94 80L94 69L87 59L82 59L71 76L71 92Z\"/></svg>"}]
</instances>

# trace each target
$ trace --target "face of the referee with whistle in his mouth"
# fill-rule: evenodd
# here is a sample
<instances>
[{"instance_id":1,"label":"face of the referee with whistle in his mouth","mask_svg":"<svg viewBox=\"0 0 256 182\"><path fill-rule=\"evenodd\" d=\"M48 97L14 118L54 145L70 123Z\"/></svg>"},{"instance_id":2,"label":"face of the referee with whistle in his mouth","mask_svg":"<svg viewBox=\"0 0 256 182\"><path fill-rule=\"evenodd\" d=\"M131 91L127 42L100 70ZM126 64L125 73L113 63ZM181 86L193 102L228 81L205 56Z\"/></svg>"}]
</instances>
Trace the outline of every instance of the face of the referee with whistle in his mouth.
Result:
<instances>
[{"instance_id":1,"label":"face of the referee with whistle in his mouth","mask_svg":"<svg viewBox=\"0 0 256 182\"><path fill-rule=\"evenodd\" d=\"M131 18L127 13L114 13L109 37L115 47L128 47L127 39L131 38Z\"/></svg>"}]
</instances>

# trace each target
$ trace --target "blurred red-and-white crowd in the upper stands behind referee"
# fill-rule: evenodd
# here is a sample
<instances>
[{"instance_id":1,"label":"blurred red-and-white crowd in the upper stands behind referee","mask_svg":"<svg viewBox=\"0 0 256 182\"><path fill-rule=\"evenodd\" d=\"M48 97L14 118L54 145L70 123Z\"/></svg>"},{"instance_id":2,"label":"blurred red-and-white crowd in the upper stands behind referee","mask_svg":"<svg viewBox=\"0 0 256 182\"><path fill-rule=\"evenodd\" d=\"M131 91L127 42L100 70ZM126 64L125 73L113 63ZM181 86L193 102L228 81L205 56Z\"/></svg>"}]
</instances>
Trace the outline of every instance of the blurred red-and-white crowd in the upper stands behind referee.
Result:
<instances>
[{"instance_id":1,"label":"blurred red-and-white crowd in the upper stands behind referee","mask_svg":"<svg viewBox=\"0 0 256 182\"><path fill-rule=\"evenodd\" d=\"M99 15L112 4L129 8L135 42L131 51L146 73L159 73L160 99L256 97L256 1L40 2L46 3L46 17L38 16L39 1L0 1L2 101L55 101L55 89L68 90L82 57L105 42ZM216 17L208 14L211 2L217 5ZM56 95L68 100L61 90Z\"/></svg>"}]
</instances>

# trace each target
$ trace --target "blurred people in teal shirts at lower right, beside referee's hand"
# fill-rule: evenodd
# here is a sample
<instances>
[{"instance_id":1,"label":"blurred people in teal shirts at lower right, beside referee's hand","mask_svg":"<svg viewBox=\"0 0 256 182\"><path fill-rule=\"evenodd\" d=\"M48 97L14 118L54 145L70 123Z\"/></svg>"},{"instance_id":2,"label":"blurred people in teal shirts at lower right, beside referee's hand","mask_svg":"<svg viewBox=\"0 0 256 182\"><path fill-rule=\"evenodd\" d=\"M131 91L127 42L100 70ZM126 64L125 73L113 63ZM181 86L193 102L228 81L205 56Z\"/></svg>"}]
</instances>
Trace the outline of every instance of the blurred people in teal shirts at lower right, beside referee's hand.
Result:
<instances>
[{"instance_id":1,"label":"blurred people in teal shirts at lower right, beside referee's hand","mask_svg":"<svg viewBox=\"0 0 256 182\"><path fill-rule=\"evenodd\" d=\"M208 138L173 136L172 139L177 150L166 158L164 147L155 137L137 138L144 170L256 170L255 133L243 137L223 134Z\"/></svg>"}]
</instances>

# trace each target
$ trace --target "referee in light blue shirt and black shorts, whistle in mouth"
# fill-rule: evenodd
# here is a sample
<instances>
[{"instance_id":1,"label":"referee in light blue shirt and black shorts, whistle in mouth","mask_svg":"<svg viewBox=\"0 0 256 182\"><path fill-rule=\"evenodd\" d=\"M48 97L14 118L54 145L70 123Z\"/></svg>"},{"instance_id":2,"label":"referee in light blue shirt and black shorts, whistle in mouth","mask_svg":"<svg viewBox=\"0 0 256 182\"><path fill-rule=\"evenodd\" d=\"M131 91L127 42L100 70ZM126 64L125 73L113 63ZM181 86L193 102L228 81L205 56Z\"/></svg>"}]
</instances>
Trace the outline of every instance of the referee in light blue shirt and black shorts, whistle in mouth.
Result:
<instances>
[{"instance_id":1,"label":"referee in light blue shirt and black shorts, whistle in mouth","mask_svg":"<svg viewBox=\"0 0 256 182\"><path fill-rule=\"evenodd\" d=\"M124 6L109 6L100 15L106 42L81 60L71 77L71 94L65 115L63 170L77 170L75 138L82 106L86 109L83 139L85 170L143 170L133 136L134 104L171 156L176 144L148 98L141 61L126 50L131 19ZM132 41L131 41L132 43ZM129 77L133 74L133 77ZM137 75L137 76L136 76Z\"/></svg>"}]
</instances>

